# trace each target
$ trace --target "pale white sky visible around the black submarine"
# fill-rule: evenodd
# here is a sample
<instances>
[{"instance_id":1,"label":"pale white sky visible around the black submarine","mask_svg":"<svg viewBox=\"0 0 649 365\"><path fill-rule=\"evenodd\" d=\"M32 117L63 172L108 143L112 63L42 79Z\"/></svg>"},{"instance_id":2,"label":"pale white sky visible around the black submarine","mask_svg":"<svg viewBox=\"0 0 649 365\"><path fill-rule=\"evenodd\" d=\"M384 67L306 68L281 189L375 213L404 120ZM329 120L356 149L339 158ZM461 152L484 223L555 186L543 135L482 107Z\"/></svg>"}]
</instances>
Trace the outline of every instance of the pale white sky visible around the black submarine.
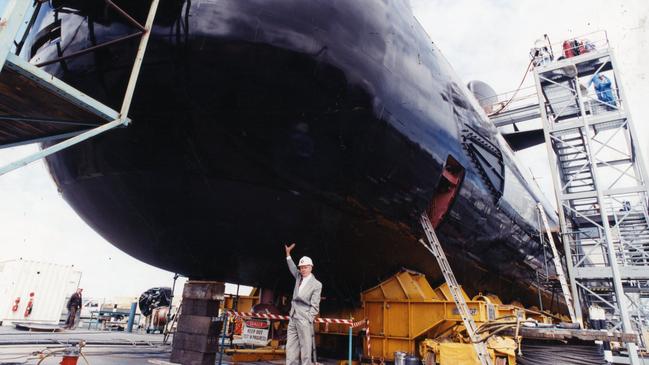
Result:
<instances>
[{"instance_id":1,"label":"pale white sky visible around the black submarine","mask_svg":"<svg viewBox=\"0 0 649 365\"><path fill-rule=\"evenodd\" d=\"M6 2L0 0L0 9ZM516 87L529 62L530 47L544 33L559 41L608 29L643 152L649 157L649 121L641 118L649 115L644 66L649 54L649 2L411 0L411 4L461 79L486 81L499 92ZM36 146L0 150L0 165L36 150ZM525 151L520 157L553 199L543 150ZM23 257L74 264L83 272L88 296L133 296L171 284L172 273L124 254L90 229L60 197L40 161L0 177L0 202L0 261Z\"/></svg>"}]
</instances>

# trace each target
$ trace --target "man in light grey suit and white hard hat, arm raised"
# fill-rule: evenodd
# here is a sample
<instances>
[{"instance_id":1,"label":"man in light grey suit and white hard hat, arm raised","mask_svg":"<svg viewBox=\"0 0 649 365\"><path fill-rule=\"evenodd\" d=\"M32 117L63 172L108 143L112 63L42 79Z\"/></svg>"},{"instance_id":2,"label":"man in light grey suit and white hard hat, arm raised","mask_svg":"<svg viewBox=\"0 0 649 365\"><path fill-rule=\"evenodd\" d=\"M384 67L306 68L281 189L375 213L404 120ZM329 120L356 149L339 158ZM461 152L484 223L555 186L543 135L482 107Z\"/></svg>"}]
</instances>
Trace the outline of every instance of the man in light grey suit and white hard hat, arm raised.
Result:
<instances>
[{"instance_id":1,"label":"man in light grey suit and white hard hat, arm raised","mask_svg":"<svg viewBox=\"0 0 649 365\"><path fill-rule=\"evenodd\" d=\"M291 258L293 247L295 247L295 243L284 246L288 269L295 278L290 311L291 319L288 321L286 336L286 364L311 365L311 356L315 347L313 320L320 310L322 283L316 280L311 273L313 261L309 257L302 257L297 266L295 265Z\"/></svg>"}]
</instances>

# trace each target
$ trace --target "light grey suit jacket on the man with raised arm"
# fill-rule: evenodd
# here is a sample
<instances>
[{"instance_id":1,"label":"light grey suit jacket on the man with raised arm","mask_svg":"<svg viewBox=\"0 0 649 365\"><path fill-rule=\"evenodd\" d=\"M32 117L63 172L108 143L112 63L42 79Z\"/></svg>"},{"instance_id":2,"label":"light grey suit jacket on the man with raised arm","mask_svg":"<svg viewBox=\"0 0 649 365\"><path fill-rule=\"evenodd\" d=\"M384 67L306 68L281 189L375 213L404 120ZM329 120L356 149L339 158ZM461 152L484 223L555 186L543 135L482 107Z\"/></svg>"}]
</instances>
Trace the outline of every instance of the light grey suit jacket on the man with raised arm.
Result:
<instances>
[{"instance_id":1,"label":"light grey suit jacket on the man with raised arm","mask_svg":"<svg viewBox=\"0 0 649 365\"><path fill-rule=\"evenodd\" d=\"M295 288L293 289L293 300L291 301L291 318L302 319L312 323L315 316L320 310L320 293L322 292L322 283L319 282L313 274L309 281L304 283L305 287L300 287L300 271L298 270L292 258L287 258L286 263L291 275L295 278Z\"/></svg>"}]
</instances>

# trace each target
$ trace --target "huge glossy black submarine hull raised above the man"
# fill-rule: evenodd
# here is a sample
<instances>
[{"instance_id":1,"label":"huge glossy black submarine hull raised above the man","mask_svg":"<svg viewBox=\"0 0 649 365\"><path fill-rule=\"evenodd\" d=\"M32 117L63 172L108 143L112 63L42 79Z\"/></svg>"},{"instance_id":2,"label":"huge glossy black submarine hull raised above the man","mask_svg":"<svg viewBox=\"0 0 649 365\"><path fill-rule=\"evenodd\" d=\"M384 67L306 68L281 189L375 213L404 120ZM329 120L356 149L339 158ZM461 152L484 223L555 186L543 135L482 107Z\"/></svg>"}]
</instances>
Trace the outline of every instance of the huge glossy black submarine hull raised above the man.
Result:
<instances>
[{"instance_id":1,"label":"huge glossy black submarine hull raised above the man","mask_svg":"<svg viewBox=\"0 0 649 365\"><path fill-rule=\"evenodd\" d=\"M115 4L140 22L150 5ZM38 25L31 62L117 108L132 23L52 0ZM406 0L162 0L129 117L46 164L88 225L148 264L289 292L294 242L323 306L348 306L402 268L443 280L419 242L427 212L470 295L534 305L554 271L536 205L556 231L554 209Z\"/></svg>"}]
</instances>

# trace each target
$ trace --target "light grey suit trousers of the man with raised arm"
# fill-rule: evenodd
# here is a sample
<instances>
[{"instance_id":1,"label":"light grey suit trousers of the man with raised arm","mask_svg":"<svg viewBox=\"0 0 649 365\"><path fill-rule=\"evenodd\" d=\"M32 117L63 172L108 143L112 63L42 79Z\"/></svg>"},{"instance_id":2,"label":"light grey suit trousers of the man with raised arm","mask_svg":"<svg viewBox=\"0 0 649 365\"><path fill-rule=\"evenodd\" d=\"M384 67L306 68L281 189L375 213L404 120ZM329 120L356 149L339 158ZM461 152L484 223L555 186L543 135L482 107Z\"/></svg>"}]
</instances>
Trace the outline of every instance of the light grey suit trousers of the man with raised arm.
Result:
<instances>
[{"instance_id":1,"label":"light grey suit trousers of the man with raised arm","mask_svg":"<svg viewBox=\"0 0 649 365\"><path fill-rule=\"evenodd\" d=\"M286 365L311 365L314 343L313 323L291 318L286 334Z\"/></svg>"}]
</instances>

